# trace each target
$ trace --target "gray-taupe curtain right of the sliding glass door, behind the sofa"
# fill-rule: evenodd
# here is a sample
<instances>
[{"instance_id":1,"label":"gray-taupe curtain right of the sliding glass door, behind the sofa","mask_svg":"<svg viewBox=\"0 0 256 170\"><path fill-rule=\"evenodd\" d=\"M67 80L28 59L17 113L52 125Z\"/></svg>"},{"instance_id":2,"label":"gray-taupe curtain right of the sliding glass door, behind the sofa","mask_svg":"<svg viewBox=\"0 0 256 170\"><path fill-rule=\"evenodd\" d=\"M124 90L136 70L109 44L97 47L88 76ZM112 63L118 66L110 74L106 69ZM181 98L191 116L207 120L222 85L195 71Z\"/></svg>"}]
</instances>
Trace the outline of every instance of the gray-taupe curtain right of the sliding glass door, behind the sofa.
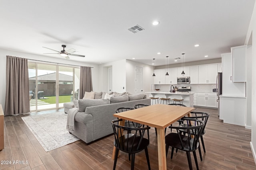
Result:
<instances>
[{"instance_id":1,"label":"gray-taupe curtain right of the sliding glass door, behind the sofa","mask_svg":"<svg viewBox=\"0 0 256 170\"><path fill-rule=\"evenodd\" d=\"M80 93L79 97L82 99L85 92L92 91L92 68L81 66L80 67Z\"/></svg>"}]
</instances>

